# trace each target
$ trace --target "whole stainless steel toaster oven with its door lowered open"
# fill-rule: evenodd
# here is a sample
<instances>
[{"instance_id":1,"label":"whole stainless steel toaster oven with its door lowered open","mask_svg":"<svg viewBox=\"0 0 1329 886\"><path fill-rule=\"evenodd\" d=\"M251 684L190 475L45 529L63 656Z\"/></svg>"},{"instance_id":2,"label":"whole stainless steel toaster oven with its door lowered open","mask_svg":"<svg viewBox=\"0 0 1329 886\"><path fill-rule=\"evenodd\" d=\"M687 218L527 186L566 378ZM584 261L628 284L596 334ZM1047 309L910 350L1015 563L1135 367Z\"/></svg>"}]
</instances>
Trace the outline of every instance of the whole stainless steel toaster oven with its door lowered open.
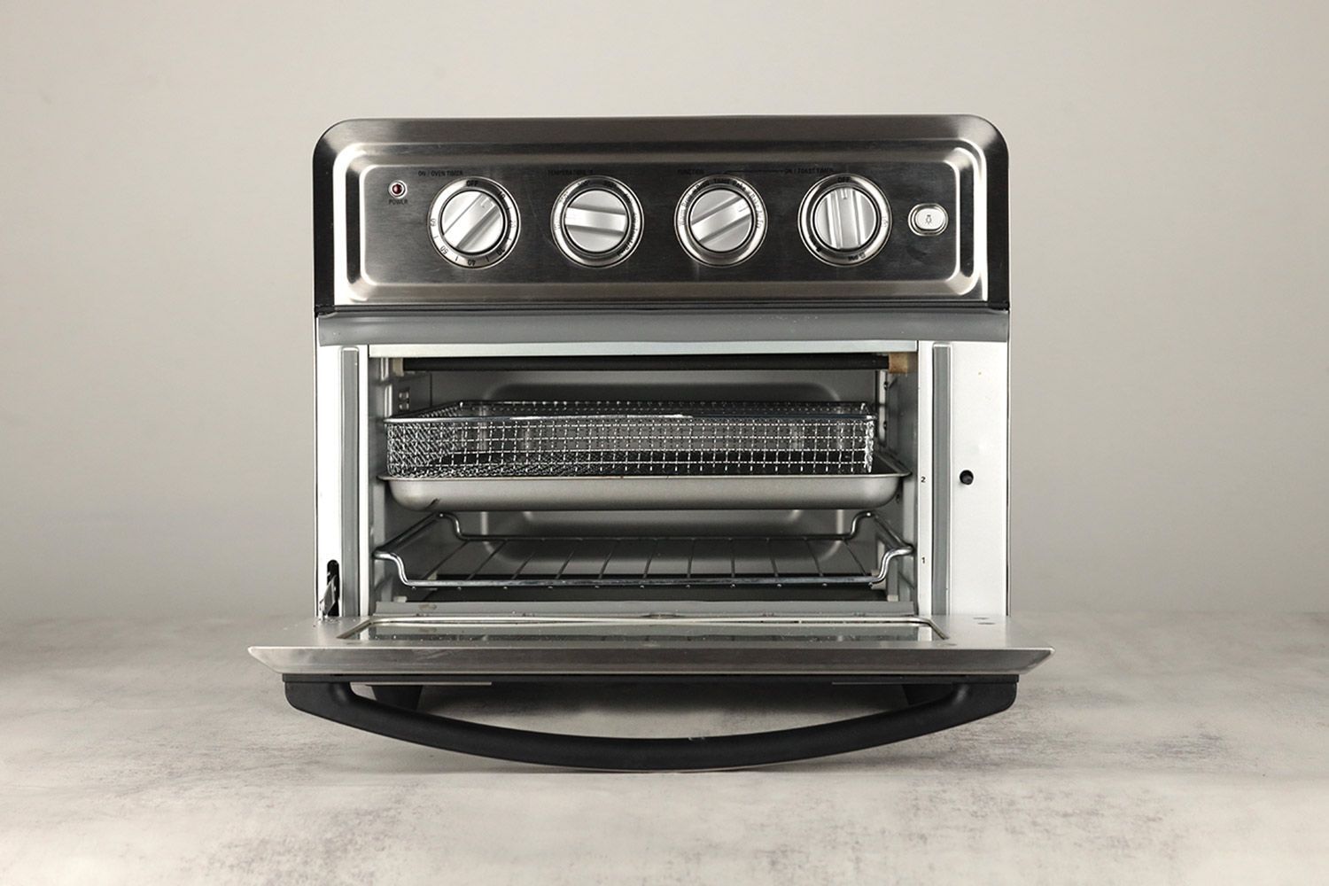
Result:
<instances>
[{"instance_id":1,"label":"whole stainless steel toaster oven with its door lowered open","mask_svg":"<svg viewBox=\"0 0 1329 886\"><path fill-rule=\"evenodd\" d=\"M302 711L452 751L727 768L1007 708L1006 147L977 117L365 120L314 154ZM863 683L773 732L421 709L509 681ZM977 739L977 736L975 736Z\"/></svg>"}]
</instances>

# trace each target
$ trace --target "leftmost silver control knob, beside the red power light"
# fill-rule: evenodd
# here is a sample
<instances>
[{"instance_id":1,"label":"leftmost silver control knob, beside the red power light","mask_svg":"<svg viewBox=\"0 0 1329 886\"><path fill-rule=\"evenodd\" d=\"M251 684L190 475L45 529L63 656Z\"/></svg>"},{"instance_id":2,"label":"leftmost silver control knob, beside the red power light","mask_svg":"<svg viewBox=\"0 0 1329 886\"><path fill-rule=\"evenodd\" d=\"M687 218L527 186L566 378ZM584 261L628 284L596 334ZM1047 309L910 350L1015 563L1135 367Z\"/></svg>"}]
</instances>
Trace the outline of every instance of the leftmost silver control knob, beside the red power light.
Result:
<instances>
[{"instance_id":1,"label":"leftmost silver control knob, beside the red power light","mask_svg":"<svg viewBox=\"0 0 1329 886\"><path fill-rule=\"evenodd\" d=\"M459 267L497 264L512 252L520 227L512 194L488 178L459 179L429 205L429 236Z\"/></svg>"}]
</instances>

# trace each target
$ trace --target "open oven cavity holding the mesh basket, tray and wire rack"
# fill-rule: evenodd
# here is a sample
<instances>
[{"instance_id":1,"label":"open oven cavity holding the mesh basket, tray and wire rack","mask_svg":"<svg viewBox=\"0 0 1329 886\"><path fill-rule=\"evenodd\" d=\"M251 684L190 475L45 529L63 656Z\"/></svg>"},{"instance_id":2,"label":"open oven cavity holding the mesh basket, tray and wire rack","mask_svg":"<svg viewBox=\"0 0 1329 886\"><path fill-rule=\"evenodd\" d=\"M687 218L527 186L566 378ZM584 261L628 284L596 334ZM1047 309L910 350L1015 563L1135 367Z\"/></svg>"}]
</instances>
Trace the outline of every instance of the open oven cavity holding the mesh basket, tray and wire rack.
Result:
<instances>
[{"instance_id":1,"label":"open oven cavity holding the mesh basket, tray and wire rack","mask_svg":"<svg viewBox=\"0 0 1329 886\"><path fill-rule=\"evenodd\" d=\"M368 491L361 612L440 615L468 604L533 602L619 608L645 603L663 611L688 600L727 603L744 612L767 611L763 607L776 602L845 600L873 612L914 614L918 376L913 357L371 357L361 437ZM805 410L843 410L863 422L869 464L848 476L837 466L841 446L863 445L852 428L844 433L836 425L829 437L804 440L797 437L800 425L792 425L789 436L791 425L779 422L773 426L783 438L759 445L779 449L776 460L799 462L792 468L754 465L754 457L772 456L751 444L720 453L719 465L661 466L654 462L678 453L666 452L668 442L653 446L651 440L666 440L653 434L666 432L645 428L639 434L645 442L625 445L631 449L625 466L602 466L587 476L578 476L594 470L575 461L581 454L571 453L569 461L563 452L549 453L563 461L540 468L540 477L521 477L524 469L517 469L517 476L431 486L435 481L403 480L401 450L393 453L401 440L393 442L393 429L419 429L395 422L449 413L444 409L449 404L502 414L506 424L486 425L489 430L480 434L492 452L497 433L529 436L530 425L522 422L538 426L540 413L595 413L586 404L622 402L635 404L630 413L643 413L626 421L651 421L651 410L687 412L699 404L719 413L734 406L740 421L754 412L766 414L767 406L795 416L796 422ZM521 414L524 404L534 417ZM477 437L466 440L465 445L476 445ZM688 448L684 456L695 458L695 445L683 446ZM528 457L529 450L530 445ZM492 470L492 465L468 469ZM625 486L622 481L638 472L651 477ZM687 482L671 477L679 472Z\"/></svg>"}]
</instances>

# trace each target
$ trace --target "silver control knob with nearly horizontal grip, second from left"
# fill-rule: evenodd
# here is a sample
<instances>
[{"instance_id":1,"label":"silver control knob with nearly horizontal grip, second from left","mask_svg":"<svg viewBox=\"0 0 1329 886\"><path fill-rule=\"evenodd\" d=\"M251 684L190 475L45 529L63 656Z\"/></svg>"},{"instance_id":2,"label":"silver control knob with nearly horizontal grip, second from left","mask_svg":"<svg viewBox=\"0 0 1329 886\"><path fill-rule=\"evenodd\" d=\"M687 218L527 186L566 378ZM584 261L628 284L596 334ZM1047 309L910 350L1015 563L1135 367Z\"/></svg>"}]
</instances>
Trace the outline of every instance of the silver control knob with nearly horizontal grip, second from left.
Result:
<instances>
[{"instance_id":1,"label":"silver control knob with nearly horizontal grip, second from left","mask_svg":"<svg viewBox=\"0 0 1329 886\"><path fill-rule=\"evenodd\" d=\"M587 267L610 267L642 239L642 205L617 178L579 178L562 190L549 217L563 255Z\"/></svg>"}]
</instances>

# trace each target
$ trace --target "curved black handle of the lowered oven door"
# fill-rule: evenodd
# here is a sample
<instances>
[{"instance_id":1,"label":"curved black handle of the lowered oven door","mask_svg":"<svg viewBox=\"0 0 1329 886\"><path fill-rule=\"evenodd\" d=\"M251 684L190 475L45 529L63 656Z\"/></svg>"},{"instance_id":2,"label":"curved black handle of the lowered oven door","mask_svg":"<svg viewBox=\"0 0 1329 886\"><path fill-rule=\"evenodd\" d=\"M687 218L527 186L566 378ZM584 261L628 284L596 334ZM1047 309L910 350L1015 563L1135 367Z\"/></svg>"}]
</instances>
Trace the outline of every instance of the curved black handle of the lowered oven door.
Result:
<instances>
[{"instance_id":1,"label":"curved black handle of the lowered oven door","mask_svg":"<svg viewBox=\"0 0 1329 886\"><path fill-rule=\"evenodd\" d=\"M415 744L575 769L738 769L874 748L949 729L1005 711L1015 679L956 681L908 708L795 729L695 739L614 739L510 729L420 713L356 695L346 680L287 680L292 707L348 727Z\"/></svg>"}]
</instances>

